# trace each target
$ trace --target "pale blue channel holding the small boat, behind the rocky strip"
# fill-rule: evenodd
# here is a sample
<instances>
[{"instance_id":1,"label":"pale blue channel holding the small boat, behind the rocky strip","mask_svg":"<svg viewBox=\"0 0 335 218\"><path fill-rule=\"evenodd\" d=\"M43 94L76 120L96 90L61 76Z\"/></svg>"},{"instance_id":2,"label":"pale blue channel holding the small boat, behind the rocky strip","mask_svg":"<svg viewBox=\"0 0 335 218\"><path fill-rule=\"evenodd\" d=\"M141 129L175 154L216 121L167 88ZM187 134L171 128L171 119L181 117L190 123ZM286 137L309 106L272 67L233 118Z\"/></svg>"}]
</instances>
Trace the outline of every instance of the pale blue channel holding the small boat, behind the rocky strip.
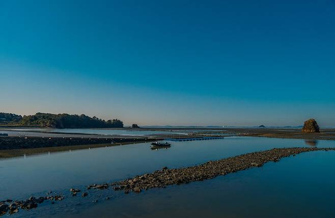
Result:
<instances>
[{"instance_id":1,"label":"pale blue channel holding the small boat, behind the rocky strip","mask_svg":"<svg viewBox=\"0 0 335 218\"><path fill-rule=\"evenodd\" d=\"M145 174L162 167L180 168L243 153L281 147L305 147L304 140L226 137L206 141L171 142L169 149L152 151L150 143L26 155L0 160L0 200L23 199L36 193L72 186L104 183ZM318 147L335 147L319 140ZM22 153L23 156L23 153ZM29 187L29 188L28 188Z\"/></svg>"}]
</instances>

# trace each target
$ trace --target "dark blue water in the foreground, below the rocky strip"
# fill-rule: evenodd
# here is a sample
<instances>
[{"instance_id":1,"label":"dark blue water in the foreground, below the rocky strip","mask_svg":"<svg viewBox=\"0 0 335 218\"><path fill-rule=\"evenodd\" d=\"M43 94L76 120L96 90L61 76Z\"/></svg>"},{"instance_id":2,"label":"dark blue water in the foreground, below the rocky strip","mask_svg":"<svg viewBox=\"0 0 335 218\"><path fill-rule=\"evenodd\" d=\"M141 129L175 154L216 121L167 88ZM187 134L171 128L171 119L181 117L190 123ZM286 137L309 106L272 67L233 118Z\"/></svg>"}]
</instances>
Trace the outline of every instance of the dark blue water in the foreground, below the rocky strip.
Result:
<instances>
[{"instance_id":1,"label":"dark blue water in the foreground, below the rocky strip","mask_svg":"<svg viewBox=\"0 0 335 218\"><path fill-rule=\"evenodd\" d=\"M335 152L103 201L65 217L334 217ZM59 214L58 214L59 215Z\"/></svg>"}]
</instances>

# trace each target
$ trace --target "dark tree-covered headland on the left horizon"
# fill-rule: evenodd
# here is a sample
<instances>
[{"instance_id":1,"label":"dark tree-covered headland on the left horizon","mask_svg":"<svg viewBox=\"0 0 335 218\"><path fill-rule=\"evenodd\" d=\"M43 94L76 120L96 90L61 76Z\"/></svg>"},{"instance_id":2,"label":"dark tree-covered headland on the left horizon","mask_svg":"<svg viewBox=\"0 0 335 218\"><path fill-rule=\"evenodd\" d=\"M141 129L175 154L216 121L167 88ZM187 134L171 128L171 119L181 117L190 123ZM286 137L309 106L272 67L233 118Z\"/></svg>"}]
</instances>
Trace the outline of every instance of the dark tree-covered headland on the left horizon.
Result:
<instances>
[{"instance_id":1,"label":"dark tree-covered headland on the left horizon","mask_svg":"<svg viewBox=\"0 0 335 218\"><path fill-rule=\"evenodd\" d=\"M123 128L123 122L119 119L109 119L105 121L95 116L89 117L85 114L36 113L35 115L21 116L13 113L0 112L0 126L48 127L59 129Z\"/></svg>"}]
</instances>

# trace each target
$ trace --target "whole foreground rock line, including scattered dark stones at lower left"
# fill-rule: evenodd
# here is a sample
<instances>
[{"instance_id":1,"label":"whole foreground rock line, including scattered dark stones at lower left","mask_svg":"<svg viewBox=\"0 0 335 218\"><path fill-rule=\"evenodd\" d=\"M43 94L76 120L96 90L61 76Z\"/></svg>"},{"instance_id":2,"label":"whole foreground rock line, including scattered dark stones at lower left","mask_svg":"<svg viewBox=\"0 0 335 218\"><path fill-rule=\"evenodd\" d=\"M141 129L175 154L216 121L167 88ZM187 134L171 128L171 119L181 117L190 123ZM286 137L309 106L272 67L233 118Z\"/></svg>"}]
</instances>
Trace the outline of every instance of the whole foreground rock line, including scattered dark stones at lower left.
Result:
<instances>
[{"instance_id":1,"label":"whole foreground rock line, including scattered dark stones at lower left","mask_svg":"<svg viewBox=\"0 0 335 218\"><path fill-rule=\"evenodd\" d=\"M123 181L114 182L111 184L91 184L87 186L87 190L105 190L113 186L114 190L124 190L125 193L141 192L142 190L152 188L165 188L167 185L175 185L182 183L189 183L192 181L202 181L204 179L211 179L219 175L226 175L228 173L245 170L250 167L261 167L265 163L273 161L277 162L282 158L295 156L301 152L317 151L317 150L335 150L335 148L273 148L271 150L259 151L238 155L236 157L221 159L218 161L209 161L202 165L167 169L163 167L162 170L157 170L153 173L138 175ZM80 192L78 189L70 189L70 196L76 196ZM54 193L57 194L57 193ZM82 193L81 197L88 196L89 193ZM70 197L68 196L68 197ZM61 201L65 198L63 195L52 195L51 192L47 193L44 197L30 197L26 200L4 200L0 201L0 215L16 213L20 209L30 210L36 208L38 204L45 201Z\"/></svg>"}]
</instances>

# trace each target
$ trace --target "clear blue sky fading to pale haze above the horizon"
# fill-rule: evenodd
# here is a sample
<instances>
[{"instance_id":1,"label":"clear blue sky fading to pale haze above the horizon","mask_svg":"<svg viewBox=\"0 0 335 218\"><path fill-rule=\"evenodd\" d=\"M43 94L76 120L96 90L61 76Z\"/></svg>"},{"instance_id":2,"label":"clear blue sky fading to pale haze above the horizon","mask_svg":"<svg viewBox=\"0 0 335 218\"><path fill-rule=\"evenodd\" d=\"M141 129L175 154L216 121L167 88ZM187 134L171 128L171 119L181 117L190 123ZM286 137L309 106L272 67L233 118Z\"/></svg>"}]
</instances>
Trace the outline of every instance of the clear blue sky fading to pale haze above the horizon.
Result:
<instances>
[{"instance_id":1,"label":"clear blue sky fading to pale haze above the horizon","mask_svg":"<svg viewBox=\"0 0 335 218\"><path fill-rule=\"evenodd\" d=\"M335 126L335 1L0 1L0 111Z\"/></svg>"}]
</instances>

